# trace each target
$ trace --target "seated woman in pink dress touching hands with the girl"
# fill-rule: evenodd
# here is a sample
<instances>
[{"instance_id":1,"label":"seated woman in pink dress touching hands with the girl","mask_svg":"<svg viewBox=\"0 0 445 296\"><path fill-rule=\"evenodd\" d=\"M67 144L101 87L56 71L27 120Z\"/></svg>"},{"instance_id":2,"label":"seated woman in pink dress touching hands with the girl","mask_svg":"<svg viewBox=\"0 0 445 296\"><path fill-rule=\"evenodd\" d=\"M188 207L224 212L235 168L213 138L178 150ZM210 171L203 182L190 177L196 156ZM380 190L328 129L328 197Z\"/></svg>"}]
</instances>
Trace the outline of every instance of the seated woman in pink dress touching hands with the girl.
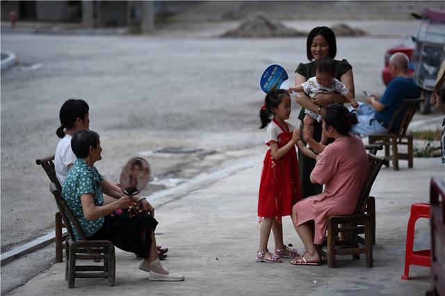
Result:
<instances>
[{"instance_id":1,"label":"seated woman in pink dress touching hands with the girl","mask_svg":"<svg viewBox=\"0 0 445 296\"><path fill-rule=\"evenodd\" d=\"M319 265L318 247L323 243L327 218L332 215L354 213L359 194L368 177L368 156L362 139L350 134L357 117L345 106L333 104L323 116L323 133L334 142L316 156L299 141L302 153L316 158L310 176L312 183L325 184L319 195L307 197L292 208L292 221L306 247L305 254L291 261L293 265Z\"/></svg>"}]
</instances>

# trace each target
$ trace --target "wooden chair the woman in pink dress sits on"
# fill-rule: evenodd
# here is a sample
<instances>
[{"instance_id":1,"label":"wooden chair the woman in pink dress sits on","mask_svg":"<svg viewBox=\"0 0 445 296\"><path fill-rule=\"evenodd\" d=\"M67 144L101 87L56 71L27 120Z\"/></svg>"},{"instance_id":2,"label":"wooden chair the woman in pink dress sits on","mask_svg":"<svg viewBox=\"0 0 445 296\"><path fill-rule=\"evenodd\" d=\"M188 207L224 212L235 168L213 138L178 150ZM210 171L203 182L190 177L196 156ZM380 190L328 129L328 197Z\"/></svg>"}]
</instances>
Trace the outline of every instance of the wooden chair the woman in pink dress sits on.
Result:
<instances>
[{"instance_id":1,"label":"wooden chair the woman in pink dress sits on","mask_svg":"<svg viewBox=\"0 0 445 296\"><path fill-rule=\"evenodd\" d=\"M327 241L323 242L323 246L327 246L327 252L322 249L321 254L327 259L327 265L330 268L335 266L336 255L350 254L357 259L359 254L365 254L366 267L373 266L373 229L375 226L373 226L369 211L375 213L375 208L369 208L369 192L385 161L372 154L368 154L368 159L369 176L360 193L355 212L351 215L331 216L328 219ZM374 203L371 203L371 206L373 205ZM350 236L346 240L340 240L339 233L350 233ZM360 234L364 234L364 237ZM359 245L364 245L364 247Z\"/></svg>"}]
</instances>

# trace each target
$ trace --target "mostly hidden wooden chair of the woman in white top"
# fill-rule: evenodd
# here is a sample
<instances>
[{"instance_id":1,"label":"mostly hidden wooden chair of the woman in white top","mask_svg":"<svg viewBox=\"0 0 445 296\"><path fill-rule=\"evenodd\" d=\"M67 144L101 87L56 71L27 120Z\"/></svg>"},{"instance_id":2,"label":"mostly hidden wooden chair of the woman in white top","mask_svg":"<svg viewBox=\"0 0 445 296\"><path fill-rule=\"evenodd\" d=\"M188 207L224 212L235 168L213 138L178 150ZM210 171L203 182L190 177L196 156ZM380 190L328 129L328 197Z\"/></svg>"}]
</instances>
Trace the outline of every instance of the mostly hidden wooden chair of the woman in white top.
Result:
<instances>
[{"instance_id":1,"label":"mostly hidden wooden chair of the woman in white top","mask_svg":"<svg viewBox=\"0 0 445 296\"><path fill-rule=\"evenodd\" d=\"M47 158L38 159L35 161L37 165L42 165L42 168L44 172L47 173L47 176L49 180L51 180L51 183L54 183L56 188L61 192L62 186L60 186L60 183L56 177L56 170L54 169L54 155L49 156ZM56 231L56 262L62 262L63 261L63 249L66 249L65 244L63 241L65 238L67 238L67 233L63 233L63 228L66 227L66 225L62 221L62 216L59 212L55 215L55 231Z\"/></svg>"}]
</instances>

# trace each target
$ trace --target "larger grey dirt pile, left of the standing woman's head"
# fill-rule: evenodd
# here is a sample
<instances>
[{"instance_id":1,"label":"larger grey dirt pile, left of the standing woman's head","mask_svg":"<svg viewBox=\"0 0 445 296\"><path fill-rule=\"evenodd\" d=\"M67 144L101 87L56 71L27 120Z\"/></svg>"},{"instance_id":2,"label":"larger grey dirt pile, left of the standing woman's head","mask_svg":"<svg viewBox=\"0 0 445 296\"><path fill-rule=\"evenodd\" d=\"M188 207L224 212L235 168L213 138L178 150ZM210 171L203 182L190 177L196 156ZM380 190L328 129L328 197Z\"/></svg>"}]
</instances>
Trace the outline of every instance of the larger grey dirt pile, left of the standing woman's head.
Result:
<instances>
[{"instance_id":1,"label":"larger grey dirt pile, left of the standing woman's head","mask_svg":"<svg viewBox=\"0 0 445 296\"><path fill-rule=\"evenodd\" d=\"M238 28L229 30L222 38L274 38L306 36L307 33L296 31L280 22L273 22L262 13L255 13L243 20Z\"/></svg>"}]
</instances>

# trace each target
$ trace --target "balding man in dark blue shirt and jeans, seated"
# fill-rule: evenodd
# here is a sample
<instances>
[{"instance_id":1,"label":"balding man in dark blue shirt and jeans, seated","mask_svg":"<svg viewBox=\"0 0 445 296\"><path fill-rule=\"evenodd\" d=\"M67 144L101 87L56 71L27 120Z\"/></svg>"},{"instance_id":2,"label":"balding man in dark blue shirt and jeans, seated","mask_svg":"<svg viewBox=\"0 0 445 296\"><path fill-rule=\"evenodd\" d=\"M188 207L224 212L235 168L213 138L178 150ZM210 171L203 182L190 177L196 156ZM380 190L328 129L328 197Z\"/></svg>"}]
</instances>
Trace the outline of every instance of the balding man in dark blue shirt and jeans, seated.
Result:
<instances>
[{"instance_id":1,"label":"balding man in dark blue shirt and jeans, seated","mask_svg":"<svg viewBox=\"0 0 445 296\"><path fill-rule=\"evenodd\" d=\"M367 104L359 104L357 114L359 123L353 126L352 132L357 135L387 133L391 119L405 99L416 99L420 95L419 88L407 73L410 59L406 54L397 52L389 58L389 72L394 78L387 89L378 97L375 94L367 97Z\"/></svg>"}]
</instances>

